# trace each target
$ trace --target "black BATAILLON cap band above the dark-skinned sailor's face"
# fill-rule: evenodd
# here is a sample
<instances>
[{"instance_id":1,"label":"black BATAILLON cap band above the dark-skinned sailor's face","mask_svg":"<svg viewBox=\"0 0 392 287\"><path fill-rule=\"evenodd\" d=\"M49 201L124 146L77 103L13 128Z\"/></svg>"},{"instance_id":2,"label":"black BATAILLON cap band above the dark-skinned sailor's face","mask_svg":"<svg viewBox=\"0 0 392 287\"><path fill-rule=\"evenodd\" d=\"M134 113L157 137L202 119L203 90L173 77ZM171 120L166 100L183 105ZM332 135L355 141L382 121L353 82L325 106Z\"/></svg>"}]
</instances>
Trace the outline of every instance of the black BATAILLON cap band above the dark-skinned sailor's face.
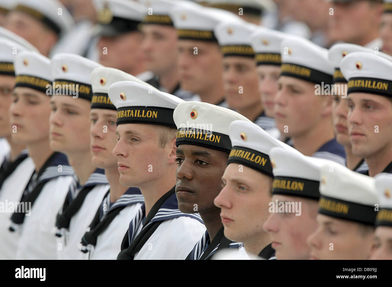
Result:
<instances>
[{"instance_id":1,"label":"black BATAILLON cap band above the dark-skinned sailor's face","mask_svg":"<svg viewBox=\"0 0 392 287\"><path fill-rule=\"evenodd\" d=\"M177 130L176 146L179 145L199 145L227 153L231 149L230 137L227 134L185 127Z\"/></svg>"}]
</instances>

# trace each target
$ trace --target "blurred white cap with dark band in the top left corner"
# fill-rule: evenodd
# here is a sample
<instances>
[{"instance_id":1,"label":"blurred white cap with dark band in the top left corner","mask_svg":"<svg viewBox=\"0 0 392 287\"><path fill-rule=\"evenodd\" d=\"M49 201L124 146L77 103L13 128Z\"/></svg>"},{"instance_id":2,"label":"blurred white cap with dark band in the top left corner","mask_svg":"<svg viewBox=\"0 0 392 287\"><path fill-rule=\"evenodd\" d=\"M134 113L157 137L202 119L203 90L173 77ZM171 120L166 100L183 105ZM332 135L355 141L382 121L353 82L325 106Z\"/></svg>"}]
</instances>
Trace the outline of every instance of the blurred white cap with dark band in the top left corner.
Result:
<instances>
[{"instance_id":1,"label":"blurred white cap with dark band in the top left corner","mask_svg":"<svg viewBox=\"0 0 392 287\"><path fill-rule=\"evenodd\" d=\"M45 24L57 35L67 32L74 20L58 0L16 0L14 11L26 13Z\"/></svg>"}]
</instances>

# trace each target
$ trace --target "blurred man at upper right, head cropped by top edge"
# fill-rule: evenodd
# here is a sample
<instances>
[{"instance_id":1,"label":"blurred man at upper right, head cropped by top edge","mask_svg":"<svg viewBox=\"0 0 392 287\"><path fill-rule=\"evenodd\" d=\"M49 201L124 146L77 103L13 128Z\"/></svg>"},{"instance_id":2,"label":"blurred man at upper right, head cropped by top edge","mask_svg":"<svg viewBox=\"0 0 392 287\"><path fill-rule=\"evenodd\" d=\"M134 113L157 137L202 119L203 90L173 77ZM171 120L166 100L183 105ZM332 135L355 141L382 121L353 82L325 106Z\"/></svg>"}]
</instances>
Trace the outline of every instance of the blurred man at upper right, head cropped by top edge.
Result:
<instances>
[{"instance_id":1,"label":"blurred man at upper right, head cropped by top edge","mask_svg":"<svg viewBox=\"0 0 392 287\"><path fill-rule=\"evenodd\" d=\"M328 42L346 42L381 51L379 38L382 0L330 0L333 16L330 16Z\"/></svg>"}]
</instances>

